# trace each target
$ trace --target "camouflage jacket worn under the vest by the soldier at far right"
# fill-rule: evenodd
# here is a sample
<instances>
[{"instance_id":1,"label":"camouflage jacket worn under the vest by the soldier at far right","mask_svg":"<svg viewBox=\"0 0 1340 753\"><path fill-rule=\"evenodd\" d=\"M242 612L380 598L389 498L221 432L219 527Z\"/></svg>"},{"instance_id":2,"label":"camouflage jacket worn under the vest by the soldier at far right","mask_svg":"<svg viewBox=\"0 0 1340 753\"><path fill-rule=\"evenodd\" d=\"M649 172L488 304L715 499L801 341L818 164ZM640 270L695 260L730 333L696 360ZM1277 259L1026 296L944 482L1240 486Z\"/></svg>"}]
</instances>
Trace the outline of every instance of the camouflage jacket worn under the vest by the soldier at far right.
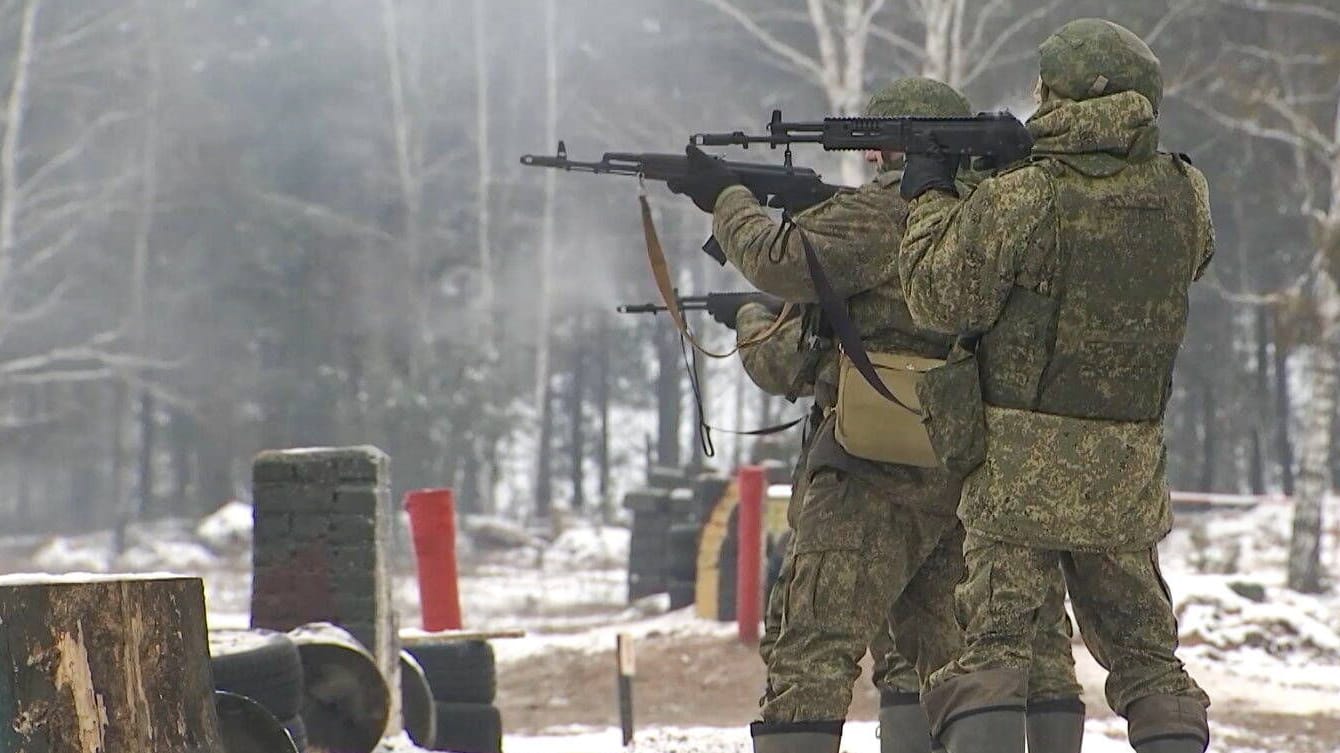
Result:
<instances>
[{"instance_id":1,"label":"camouflage jacket worn under the vest by the soldier at far right","mask_svg":"<svg viewBox=\"0 0 1340 753\"><path fill-rule=\"evenodd\" d=\"M931 192L913 201L899 267L918 323L989 334L1016 291L1056 295L1064 284L1057 238L1077 218L1057 212L1049 170L1076 172L1095 184L1138 181L1122 177L1128 165L1177 159L1155 153L1154 111L1135 92L1048 102L1028 126L1037 143L1026 165L984 181L967 198ZM1213 255L1214 233L1203 176L1190 165L1177 169L1195 209L1170 217L1183 224L1170 237L1193 238L1194 248L1170 248L1168 263L1194 259L1186 267L1190 285ZM1075 418L988 405L986 461L965 480L959 517L970 529L1033 547L1148 547L1171 528L1164 462L1159 419Z\"/></svg>"}]
</instances>

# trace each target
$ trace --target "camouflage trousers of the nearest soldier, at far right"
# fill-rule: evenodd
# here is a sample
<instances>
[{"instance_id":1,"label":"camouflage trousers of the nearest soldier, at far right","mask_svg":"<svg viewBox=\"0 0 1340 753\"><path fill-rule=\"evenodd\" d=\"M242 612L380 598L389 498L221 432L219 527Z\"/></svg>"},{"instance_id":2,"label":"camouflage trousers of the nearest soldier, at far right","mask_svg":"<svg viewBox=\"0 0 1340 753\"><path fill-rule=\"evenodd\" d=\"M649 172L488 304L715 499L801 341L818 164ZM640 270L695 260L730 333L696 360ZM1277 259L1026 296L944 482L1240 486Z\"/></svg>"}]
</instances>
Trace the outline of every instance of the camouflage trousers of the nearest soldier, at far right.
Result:
<instances>
[{"instance_id":1,"label":"camouflage trousers of the nearest soldier, at far right","mask_svg":"<svg viewBox=\"0 0 1340 753\"><path fill-rule=\"evenodd\" d=\"M1156 549L1034 549L969 532L963 559L957 598L966 646L923 695L935 733L977 709L1024 707L1036 635L1047 627L1040 615L1064 579L1080 635L1108 670L1107 702L1127 718L1132 742L1139 734L1209 738L1210 701L1175 655L1177 618Z\"/></svg>"}]
</instances>

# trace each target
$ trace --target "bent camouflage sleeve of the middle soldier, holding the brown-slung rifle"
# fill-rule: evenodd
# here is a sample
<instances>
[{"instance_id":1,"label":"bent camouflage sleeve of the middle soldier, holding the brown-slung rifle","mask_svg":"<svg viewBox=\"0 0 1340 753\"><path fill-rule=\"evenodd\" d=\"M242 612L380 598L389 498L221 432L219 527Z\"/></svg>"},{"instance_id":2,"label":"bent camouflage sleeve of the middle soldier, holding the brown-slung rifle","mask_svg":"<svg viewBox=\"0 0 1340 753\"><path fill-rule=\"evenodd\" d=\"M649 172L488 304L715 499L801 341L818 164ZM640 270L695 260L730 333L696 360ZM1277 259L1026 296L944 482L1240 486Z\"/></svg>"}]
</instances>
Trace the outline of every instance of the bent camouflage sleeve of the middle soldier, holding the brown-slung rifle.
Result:
<instances>
[{"instance_id":1,"label":"bent camouflage sleeve of the middle soldier, holding the brown-slung rifle","mask_svg":"<svg viewBox=\"0 0 1340 753\"><path fill-rule=\"evenodd\" d=\"M890 188L891 186L891 188ZM795 216L836 293L848 297L898 275L898 236L906 204L896 184L876 178ZM712 222L722 251L756 288L796 303L817 300L797 232L785 233L742 186L717 197Z\"/></svg>"}]
</instances>

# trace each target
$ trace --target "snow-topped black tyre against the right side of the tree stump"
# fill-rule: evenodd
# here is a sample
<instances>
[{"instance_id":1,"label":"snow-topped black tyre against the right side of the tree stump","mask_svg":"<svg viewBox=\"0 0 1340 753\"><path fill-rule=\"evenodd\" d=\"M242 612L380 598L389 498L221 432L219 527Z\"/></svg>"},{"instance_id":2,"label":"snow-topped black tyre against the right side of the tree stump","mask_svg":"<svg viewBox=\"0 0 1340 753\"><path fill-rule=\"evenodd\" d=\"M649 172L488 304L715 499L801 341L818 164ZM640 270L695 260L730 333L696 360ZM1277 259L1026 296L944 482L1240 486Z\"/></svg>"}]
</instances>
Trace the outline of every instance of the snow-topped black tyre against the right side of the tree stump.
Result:
<instances>
[{"instance_id":1,"label":"snow-topped black tyre against the right side of the tree stump","mask_svg":"<svg viewBox=\"0 0 1340 753\"><path fill-rule=\"evenodd\" d=\"M288 732L297 753L307 750L307 728L299 715L303 662L288 635L261 630L210 634L209 653L214 689L221 691L217 705L221 718L226 717L222 720L225 744L230 736L253 737L261 733L256 729L255 710L236 698L240 695L268 711ZM228 724L232 718L239 720L236 730ZM232 749L228 753L233 753Z\"/></svg>"}]
</instances>

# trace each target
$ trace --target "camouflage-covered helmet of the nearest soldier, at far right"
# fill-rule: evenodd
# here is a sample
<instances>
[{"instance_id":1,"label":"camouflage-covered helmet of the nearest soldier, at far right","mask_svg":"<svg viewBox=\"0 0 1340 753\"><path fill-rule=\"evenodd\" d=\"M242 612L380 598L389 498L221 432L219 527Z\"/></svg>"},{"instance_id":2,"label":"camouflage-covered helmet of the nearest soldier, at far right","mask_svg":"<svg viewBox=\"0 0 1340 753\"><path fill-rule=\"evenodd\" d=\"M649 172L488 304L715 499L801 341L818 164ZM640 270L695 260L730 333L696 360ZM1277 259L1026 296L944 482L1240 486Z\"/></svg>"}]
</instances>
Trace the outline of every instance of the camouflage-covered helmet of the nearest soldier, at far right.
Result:
<instances>
[{"instance_id":1,"label":"camouflage-covered helmet of the nearest soldier, at far right","mask_svg":"<svg viewBox=\"0 0 1340 753\"><path fill-rule=\"evenodd\" d=\"M1163 99L1159 59L1131 29L1104 19L1063 25L1038 47L1041 78L1065 99L1093 99L1122 91L1144 95L1158 113Z\"/></svg>"}]
</instances>

